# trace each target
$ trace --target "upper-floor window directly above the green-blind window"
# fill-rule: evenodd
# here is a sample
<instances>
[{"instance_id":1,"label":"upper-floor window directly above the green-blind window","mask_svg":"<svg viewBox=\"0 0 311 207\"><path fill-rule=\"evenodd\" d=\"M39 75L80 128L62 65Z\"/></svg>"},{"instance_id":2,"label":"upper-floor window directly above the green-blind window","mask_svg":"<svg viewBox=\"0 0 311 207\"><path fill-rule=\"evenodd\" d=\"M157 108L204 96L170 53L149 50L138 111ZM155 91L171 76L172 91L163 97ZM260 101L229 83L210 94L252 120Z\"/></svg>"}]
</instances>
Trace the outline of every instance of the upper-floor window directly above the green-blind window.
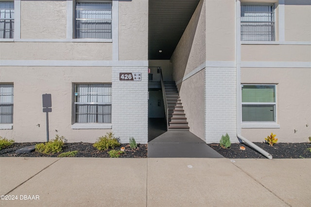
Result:
<instances>
[{"instance_id":1,"label":"upper-floor window directly above the green-blind window","mask_svg":"<svg viewBox=\"0 0 311 207\"><path fill-rule=\"evenodd\" d=\"M275 41L273 4L241 4L241 40Z\"/></svg>"}]
</instances>

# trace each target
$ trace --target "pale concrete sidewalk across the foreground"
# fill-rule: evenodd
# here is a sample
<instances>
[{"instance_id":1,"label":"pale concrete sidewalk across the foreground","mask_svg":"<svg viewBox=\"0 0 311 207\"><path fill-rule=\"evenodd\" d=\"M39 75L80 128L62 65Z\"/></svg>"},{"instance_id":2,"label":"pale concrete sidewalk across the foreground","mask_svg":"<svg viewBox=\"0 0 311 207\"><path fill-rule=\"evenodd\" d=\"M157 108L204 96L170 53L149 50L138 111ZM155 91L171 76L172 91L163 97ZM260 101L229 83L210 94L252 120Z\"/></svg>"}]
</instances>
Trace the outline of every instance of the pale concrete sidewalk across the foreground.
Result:
<instances>
[{"instance_id":1,"label":"pale concrete sidewalk across the foreground","mask_svg":"<svg viewBox=\"0 0 311 207\"><path fill-rule=\"evenodd\" d=\"M307 207L311 159L0 158L0 195L17 199L1 207Z\"/></svg>"}]
</instances>

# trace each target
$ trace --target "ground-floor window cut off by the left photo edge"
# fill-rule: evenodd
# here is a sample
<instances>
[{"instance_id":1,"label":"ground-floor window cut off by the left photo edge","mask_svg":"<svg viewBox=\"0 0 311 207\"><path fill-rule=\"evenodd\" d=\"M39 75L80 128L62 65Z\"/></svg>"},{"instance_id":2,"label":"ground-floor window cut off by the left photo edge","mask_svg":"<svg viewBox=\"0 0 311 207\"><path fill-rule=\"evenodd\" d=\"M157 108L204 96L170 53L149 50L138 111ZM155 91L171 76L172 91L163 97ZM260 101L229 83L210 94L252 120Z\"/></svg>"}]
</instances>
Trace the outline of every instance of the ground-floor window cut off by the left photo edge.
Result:
<instances>
[{"instance_id":1,"label":"ground-floor window cut off by the left photo edge","mask_svg":"<svg viewBox=\"0 0 311 207\"><path fill-rule=\"evenodd\" d=\"M0 124L13 124L13 85L0 85Z\"/></svg>"}]
</instances>

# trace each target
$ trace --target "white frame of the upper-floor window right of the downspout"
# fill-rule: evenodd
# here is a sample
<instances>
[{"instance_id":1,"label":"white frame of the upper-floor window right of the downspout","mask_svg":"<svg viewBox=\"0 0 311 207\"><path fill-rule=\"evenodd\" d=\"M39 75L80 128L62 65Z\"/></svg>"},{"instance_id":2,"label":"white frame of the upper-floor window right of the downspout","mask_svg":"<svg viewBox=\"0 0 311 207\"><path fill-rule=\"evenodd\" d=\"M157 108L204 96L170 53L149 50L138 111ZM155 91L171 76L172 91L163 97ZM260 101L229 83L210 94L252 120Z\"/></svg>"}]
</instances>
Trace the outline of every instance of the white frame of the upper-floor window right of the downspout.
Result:
<instances>
[{"instance_id":1,"label":"white frame of the upper-floor window right of the downspout","mask_svg":"<svg viewBox=\"0 0 311 207\"><path fill-rule=\"evenodd\" d=\"M271 33L271 36L269 35L269 38L271 38L271 40L260 40L260 39L254 39L254 40L243 40L242 38L242 23L265 23L264 21L242 21L242 6L271 6L272 7L272 17L273 19L271 19L271 21L269 21L271 24L273 24L273 32ZM240 7L240 27L241 27L241 41L245 44L249 43L254 43L254 42L260 42L260 43L267 43L267 44L275 44L276 43L276 8L275 8L275 4L274 3L241 3L241 7ZM268 22L267 22L268 23ZM255 27L255 26L254 26Z\"/></svg>"}]
</instances>

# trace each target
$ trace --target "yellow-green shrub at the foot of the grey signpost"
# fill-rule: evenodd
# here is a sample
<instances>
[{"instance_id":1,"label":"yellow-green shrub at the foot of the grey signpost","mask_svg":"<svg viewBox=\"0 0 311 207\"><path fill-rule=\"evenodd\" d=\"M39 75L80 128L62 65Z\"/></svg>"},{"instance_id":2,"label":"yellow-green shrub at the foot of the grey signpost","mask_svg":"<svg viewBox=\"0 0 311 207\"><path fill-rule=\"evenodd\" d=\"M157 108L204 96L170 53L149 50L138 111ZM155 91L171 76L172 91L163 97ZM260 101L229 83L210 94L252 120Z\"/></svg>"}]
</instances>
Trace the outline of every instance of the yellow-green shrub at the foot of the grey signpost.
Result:
<instances>
[{"instance_id":1,"label":"yellow-green shrub at the foot of the grey signpost","mask_svg":"<svg viewBox=\"0 0 311 207\"><path fill-rule=\"evenodd\" d=\"M62 147L66 143L64 136L59 137L57 134L54 140L47 143L39 143L35 145L35 151L43 154L55 154L62 151Z\"/></svg>"}]
</instances>

